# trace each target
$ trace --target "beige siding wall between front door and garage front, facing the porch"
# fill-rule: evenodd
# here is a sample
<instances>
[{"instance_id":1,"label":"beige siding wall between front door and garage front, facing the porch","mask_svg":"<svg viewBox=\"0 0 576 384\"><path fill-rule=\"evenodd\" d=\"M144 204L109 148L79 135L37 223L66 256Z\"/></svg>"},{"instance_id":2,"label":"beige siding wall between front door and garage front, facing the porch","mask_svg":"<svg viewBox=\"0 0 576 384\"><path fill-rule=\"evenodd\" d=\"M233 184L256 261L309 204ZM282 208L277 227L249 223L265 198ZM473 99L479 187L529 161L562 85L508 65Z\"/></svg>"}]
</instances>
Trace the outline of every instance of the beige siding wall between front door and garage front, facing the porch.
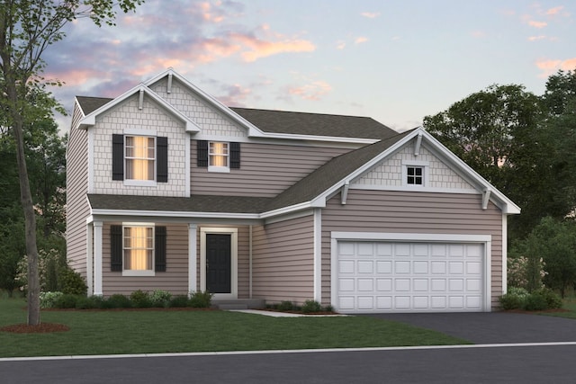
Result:
<instances>
[{"instance_id":1,"label":"beige siding wall between front door and garage front, facing the porch","mask_svg":"<svg viewBox=\"0 0 576 384\"><path fill-rule=\"evenodd\" d=\"M303 303L314 295L313 217L254 229L253 297Z\"/></svg>"}]
</instances>

